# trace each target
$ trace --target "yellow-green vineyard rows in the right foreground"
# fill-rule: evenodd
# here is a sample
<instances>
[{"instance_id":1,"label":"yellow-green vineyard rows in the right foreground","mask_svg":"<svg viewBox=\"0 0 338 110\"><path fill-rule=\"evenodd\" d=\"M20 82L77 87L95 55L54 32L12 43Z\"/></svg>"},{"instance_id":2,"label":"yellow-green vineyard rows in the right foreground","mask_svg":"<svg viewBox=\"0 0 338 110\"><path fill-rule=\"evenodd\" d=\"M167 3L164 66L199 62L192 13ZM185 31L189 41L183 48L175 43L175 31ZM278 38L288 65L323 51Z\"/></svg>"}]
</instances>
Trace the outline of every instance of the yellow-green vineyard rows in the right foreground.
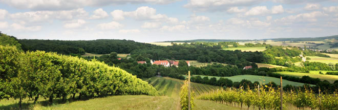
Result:
<instances>
[{"instance_id":1,"label":"yellow-green vineyard rows in the right foreground","mask_svg":"<svg viewBox=\"0 0 338 110\"><path fill-rule=\"evenodd\" d=\"M210 100L247 109L280 109L280 90L264 86L254 90L219 90L201 95L198 99ZM288 109L338 109L337 94L314 94L312 91L283 93L283 108Z\"/></svg>"}]
</instances>

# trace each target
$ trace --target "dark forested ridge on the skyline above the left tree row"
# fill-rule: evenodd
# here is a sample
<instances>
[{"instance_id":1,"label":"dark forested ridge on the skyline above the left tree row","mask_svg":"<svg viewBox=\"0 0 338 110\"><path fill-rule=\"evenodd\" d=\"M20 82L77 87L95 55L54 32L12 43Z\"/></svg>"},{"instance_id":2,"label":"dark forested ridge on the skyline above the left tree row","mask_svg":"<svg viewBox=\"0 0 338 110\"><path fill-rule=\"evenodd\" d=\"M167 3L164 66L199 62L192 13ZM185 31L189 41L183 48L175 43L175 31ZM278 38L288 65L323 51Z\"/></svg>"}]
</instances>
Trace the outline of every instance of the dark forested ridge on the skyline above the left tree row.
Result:
<instances>
[{"instance_id":1,"label":"dark forested ridge on the skyline above the left tree row","mask_svg":"<svg viewBox=\"0 0 338 110\"><path fill-rule=\"evenodd\" d=\"M19 39L24 51L46 51L57 52L59 54L109 54L131 53L133 50L159 47L148 43L135 42L133 40L98 39L98 40L38 40L38 39Z\"/></svg>"}]
</instances>

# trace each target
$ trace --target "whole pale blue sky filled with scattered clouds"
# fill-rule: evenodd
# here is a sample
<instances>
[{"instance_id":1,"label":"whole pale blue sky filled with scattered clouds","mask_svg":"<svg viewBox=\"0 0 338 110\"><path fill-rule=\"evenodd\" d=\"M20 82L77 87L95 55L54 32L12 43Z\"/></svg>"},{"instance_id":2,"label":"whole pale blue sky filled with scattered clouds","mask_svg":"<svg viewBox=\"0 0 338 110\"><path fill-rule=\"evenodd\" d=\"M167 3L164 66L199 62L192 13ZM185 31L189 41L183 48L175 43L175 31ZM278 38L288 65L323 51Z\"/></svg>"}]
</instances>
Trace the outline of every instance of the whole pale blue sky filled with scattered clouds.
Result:
<instances>
[{"instance_id":1,"label":"whole pale blue sky filled with scattered clouds","mask_svg":"<svg viewBox=\"0 0 338 110\"><path fill-rule=\"evenodd\" d=\"M338 0L0 0L19 39L264 39L338 35Z\"/></svg>"}]
</instances>

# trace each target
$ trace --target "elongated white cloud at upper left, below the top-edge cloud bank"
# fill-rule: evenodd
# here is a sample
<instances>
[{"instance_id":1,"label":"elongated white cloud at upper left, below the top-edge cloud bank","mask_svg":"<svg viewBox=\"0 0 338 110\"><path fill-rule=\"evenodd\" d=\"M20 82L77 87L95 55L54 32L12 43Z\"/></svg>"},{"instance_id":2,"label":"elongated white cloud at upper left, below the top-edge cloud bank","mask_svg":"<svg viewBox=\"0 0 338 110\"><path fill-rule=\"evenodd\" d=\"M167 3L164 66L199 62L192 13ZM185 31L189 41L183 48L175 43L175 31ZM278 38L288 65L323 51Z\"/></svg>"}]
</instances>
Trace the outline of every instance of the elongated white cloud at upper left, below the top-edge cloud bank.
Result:
<instances>
[{"instance_id":1,"label":"elongated white cloud at upper left, below the top-edge cloud bank","mask_svg":"<svg viewBox=\"0 0 338 110\"><path fill-rule=\"evenodd\" d=\"M41 22L53 19L70 20L86 16L88 16L88 13L82 8L67 11L31 11L10 14L10 18L13 20L26 22Z\"/></svg>"}]
</instances>

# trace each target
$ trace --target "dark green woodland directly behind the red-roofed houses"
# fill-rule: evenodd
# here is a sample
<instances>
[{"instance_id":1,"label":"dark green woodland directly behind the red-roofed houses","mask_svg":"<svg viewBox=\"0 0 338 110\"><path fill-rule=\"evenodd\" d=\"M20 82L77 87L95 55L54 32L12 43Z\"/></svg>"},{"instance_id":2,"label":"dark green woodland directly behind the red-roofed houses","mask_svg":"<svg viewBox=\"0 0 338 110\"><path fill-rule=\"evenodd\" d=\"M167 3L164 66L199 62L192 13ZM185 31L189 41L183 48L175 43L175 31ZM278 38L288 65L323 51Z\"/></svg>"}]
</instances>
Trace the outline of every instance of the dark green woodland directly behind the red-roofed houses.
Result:
<instances>
[{"instance_id":1,"label":"dark green woodland directly behind the red-roofed houses","mask_svg":"<svg viewBox=\"0 0 338 110\"><path fill-rule=\"evenodd\" d=\"M154 60L197 60L199 62L220 62L237 65L243 68L250 65L250 62L263 62L261 52L241 52L221 50L221 47L204 47L203 45L182 45L167 46L153 49L140 49L131 53L132 55L142 55Z\"/></svg>"}]
</instances>

